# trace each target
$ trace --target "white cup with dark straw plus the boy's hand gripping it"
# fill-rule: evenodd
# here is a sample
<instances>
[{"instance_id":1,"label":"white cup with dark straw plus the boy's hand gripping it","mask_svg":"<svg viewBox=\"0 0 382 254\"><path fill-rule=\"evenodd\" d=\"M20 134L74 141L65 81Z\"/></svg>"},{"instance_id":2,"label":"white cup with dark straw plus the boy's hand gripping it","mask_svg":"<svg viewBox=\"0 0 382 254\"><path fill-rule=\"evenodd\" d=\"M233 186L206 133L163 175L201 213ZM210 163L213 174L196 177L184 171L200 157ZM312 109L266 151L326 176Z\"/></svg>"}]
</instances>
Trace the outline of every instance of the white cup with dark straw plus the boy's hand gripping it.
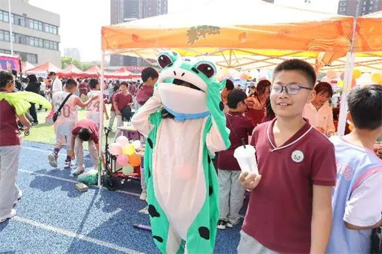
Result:
<instances>
[{"instance_id":1,"label":"white cup with dark straw plus the boy's hand gripping it","mask_svg":"<svg viewBox=\"0 0 382 254\"><path fill-rule=\"evenodd\" d=\"M235 149L233 157L238 160L242 170L239 178L240 184L244 188L252 190L256 188L261 179L256 162L256 149L254 146L245 144L244 139L242 139L242 144L242 146Z\"/></svg>"}]
</instances>

